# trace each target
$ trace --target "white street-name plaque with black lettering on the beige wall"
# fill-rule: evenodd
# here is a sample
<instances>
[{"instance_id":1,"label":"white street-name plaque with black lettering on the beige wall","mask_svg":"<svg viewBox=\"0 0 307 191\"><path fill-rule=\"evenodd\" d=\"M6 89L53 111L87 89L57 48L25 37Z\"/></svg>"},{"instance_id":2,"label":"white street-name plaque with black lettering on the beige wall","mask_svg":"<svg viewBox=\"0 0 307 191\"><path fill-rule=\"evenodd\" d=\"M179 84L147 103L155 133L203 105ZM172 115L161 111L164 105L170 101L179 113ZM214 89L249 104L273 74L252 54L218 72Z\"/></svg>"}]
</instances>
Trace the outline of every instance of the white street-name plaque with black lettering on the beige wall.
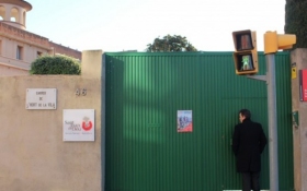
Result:
<instances>
[{"instance_id":1,"label":"white street-name plaque with black lettering on the beige wall","mask_svg":"<svg viewBox=\"0 0 307 191\"><path fill-rule=\"evenodd\" d=\"M26 109L57 109L56 88L27 88Z\"/></svg>"}]
</instances>

